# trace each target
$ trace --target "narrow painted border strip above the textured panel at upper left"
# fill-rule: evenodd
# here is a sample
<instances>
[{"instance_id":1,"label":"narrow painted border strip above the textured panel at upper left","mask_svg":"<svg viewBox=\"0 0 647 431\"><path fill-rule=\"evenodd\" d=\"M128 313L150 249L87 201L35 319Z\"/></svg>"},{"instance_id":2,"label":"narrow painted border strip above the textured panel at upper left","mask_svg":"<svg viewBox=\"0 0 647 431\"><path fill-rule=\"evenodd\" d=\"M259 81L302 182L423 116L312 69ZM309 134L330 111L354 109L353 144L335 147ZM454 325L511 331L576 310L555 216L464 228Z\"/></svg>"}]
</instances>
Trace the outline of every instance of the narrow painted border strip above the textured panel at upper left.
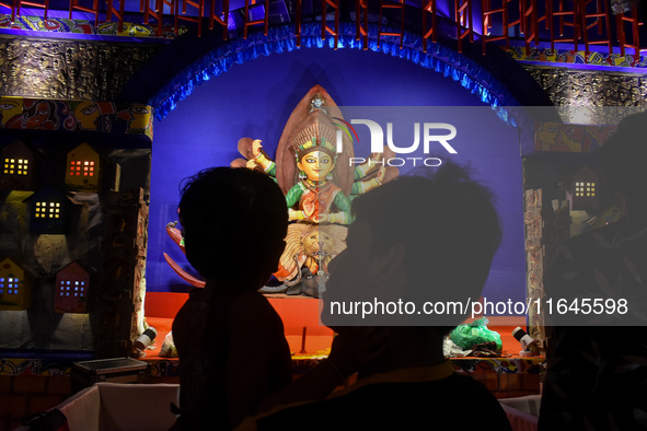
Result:
<instances>
[{"instance_id":1,"label":"narrow painted border strip above the textured panel at upper left","mask_svg":"<svg viewBox=\"0 0 647 431\"><path fill-rule=\"evenodd\" d=\"M16 16L11 22L11 15L0 15L0 28L9 30L30 30L36 32L56 32L74 33L102 36L127 36L127 37L160 37L173 39L187 32L186 26L180 26L177 34L171 24L162 25L162 34L155 34L157 26L148 24L124 23L122 32L118 31L117 22L104 21L97 26L93 20L68 20L63 18L49 18L43 20L42 16Z\"/></svg>"}]
</instances>

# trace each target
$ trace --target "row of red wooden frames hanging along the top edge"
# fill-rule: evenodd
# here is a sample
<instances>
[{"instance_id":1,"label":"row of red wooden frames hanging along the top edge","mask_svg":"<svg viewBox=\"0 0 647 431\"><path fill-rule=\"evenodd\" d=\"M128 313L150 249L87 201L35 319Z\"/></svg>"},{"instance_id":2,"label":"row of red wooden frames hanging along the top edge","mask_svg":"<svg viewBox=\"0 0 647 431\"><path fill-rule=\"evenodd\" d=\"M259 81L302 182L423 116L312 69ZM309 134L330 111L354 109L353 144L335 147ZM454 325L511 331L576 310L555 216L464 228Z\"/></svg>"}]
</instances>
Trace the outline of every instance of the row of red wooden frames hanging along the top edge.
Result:
<instances>
[{"instance_id":1,"label":"row of red wooden frames hanging along the top edge","mask_svg":"<svg viewBox=\"0 0 647 431\"><path fill-rule=\"evenodd\" d=\"M92 2L92 5L84 5L82 1L85 1L85 4ZM119 25L118 31L122 32L125 1L69 0L69 18L73 19L74 12L92 13L94 24L99 25L101 14L105 10L105 21L116 19ZM205 1L209 1L208 10ZM609 54L613 54L616 49L622 56L625 56L627 49L633 49L634 63L639 58L640 51L647 50L647 47L645 49L640 47L639 25L642 23L636 8L612 14L606 0L446 0L442 7L450 8L450 16L447 16L447 11L441 12L443 8L439 7L439 3L442 1L355 0L355 10L350 11L350 16L355 20L356 39L361 40L363 49L368 49L369 21L377 21L378 47L384 37L390 36L400 38L397 45L402 49L405 40L405 24L412 26L411 16L418 16L415 20L420 20L420 25L412 27L417 27L423 36L424 51L427 51L429 40L437 43L440 20L449 20L450 24L453 21L459 53L463 51L465 43L473 44L476 40L482 45L483 54L492 43L508 47L511 37L524 42L527 50L531 49L531 44L539 45L540 40L550 43L553 50L556 44L569 44L575 50L584 45L587 57L592 45L606 45ZM301 46L303 20L311 21L313 16L302 18L302 0L291 0L291 2L293 8L290 20L294 23L297 46ZM0 0L0 7L11 11L12 22L15 16L20 16L21 8L27 5L44 9L44 18L47 20L49 0ZM316 20L321 20L322 23L321 37L326 38L327 35L332 35L335 46L339 39L343 5L348 7L348 3L343 3L343 0L321 0L321 14L316 16ZM187 13L189 7L192 13ZM222 39L226 40L229 38L228 24L231 13L242 15L244 38L247 37L250 27L256 25L263 25L263 33L267 35L271 14L269 0L244 0L242 4L236 3L234 10L231 7L231 0L140 0L142 22L148 24L151 19L155 20L158 36L162 34L165 18L172 20L176 33L178 21L196 23L198 36L203 33L205 20L208 20L209 30L213 30L215 23L222 27ZM412 13L411 16L407 15L405 20L405 13L408 13L406 11L416 9L417 12ZM164 11L167 12L164 13ZM345 10L345 12L349 11ZM480 16L475 16L475 12ZM334 14L330 21L328 13ZM480 30L474 25L474 20L481 21L483 34L477 33ZM386 24L388 22L390 24ZM542 23L543 25L540 26ZM390 28L384 28L385 25Z\"/></svg>"}]
</instances>

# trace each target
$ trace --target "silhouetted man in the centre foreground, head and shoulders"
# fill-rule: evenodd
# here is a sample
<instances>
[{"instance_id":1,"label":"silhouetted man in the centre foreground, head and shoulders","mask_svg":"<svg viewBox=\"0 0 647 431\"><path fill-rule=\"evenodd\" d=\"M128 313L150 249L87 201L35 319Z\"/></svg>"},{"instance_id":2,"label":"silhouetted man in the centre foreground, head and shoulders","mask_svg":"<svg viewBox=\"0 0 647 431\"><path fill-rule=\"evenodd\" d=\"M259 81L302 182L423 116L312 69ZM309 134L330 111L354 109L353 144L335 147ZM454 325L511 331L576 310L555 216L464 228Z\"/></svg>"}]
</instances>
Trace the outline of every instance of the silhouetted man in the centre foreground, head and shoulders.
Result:
<instances>
[{"instance_id":1,"label":"silhouetted man in the centre foreground, head and shoulders","mask_svg":"<svg viewBox=\"0 0 647 431\"><path fill-rule=\"evenodd\" d=\"M443 338L465 316L407 313L409 302L420 311L424 300L480 298L501 235L490 193L447 164L358 197L353 212L347 248L330 265L322 321L342 335L345 325L384 326L382 354L346 389L241 429L510 430L495 397L443 357ZM402 315L390 313L401 300ZM360 307L344 315L332 311L337 302ZM369 316L362 303L385 310Z\"/></svg>"}]
</instances>

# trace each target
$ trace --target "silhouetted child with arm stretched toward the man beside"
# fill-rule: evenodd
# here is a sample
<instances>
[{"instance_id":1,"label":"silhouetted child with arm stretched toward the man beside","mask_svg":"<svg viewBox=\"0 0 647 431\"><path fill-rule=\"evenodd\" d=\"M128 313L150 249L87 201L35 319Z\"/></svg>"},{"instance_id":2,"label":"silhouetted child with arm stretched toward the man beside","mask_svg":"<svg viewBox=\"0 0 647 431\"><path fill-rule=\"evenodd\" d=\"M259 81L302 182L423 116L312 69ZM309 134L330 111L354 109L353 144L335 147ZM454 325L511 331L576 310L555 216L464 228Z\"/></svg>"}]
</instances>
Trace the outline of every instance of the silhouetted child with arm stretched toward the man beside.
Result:
<instances>
[{"instance_id":1,"label":"silhouetted child with arm stretched toward the man beside","mask_svg":"<svg viewBox=\"0 0 647 431\"><path fill-rule=\"evenodd\" d=\"M173 430L229 430L271 406L325 396L377 354L370 333L337 337L331 357L290 384L282 322L257 291L277 269L288 226L285 197L267 175L203 171L184 186L178 213L186 257L206 286L173 322L181 365Z\"/></svg>"}]
</instances>

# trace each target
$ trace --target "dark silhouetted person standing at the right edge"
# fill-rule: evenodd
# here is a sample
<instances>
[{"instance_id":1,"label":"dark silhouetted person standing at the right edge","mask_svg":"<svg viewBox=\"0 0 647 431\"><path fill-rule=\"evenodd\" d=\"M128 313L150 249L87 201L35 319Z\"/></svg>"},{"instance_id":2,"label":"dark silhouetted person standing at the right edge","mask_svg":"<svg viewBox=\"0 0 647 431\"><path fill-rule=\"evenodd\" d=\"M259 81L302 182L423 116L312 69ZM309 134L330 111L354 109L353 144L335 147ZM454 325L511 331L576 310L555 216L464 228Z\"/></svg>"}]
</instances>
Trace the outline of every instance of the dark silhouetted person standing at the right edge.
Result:
<instances>
[{"instance_id":1,"label":"dark silhouetted person standing at the right edge","mask_svg":"<svg viewBox=\"0 0 647 431\"><path fill-rule=\"evenodd\" d=\"M557 321L540 430L647 430L646 137L647 113L632 115L599 152L623 218L571 238L550 265L546 298L598 299L604 307Z\"/></svg>"}]
</instances>

